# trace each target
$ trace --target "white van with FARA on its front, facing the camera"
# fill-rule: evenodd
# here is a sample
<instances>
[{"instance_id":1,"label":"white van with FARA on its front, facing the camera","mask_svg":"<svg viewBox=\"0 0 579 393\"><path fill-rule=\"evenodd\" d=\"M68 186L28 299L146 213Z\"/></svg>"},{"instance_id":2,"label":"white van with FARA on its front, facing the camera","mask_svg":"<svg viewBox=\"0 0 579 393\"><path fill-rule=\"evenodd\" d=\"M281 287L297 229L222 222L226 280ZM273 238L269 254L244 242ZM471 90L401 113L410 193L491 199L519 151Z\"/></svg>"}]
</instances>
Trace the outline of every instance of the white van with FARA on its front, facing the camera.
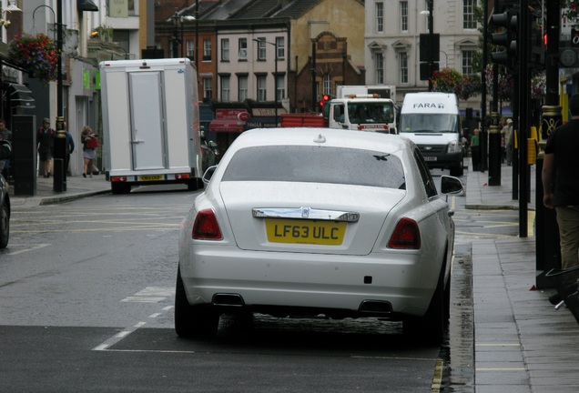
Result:
<instances>
[{"instance_id":1,"label":"white van with FARA on its front, facing the camera","mask_svg":"<svg viewBox=\"0 0 579 393\"><path fill-rule=\"evenodd\" d=\"M400 135L411 139L432 168L463 175L461 114L451 93L408 93L401 110Z\"/></svg>"}]
</instances>

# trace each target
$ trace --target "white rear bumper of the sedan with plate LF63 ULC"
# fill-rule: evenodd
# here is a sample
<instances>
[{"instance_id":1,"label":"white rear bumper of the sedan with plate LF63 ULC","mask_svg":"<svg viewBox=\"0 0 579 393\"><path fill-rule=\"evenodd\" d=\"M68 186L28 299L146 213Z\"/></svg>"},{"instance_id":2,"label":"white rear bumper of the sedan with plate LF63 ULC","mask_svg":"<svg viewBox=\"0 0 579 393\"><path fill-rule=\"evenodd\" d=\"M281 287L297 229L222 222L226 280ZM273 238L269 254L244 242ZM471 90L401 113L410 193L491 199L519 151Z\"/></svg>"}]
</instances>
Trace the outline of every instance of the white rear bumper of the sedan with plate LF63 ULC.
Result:
<instances>
[{"instance_id":1,"label":"white rear bumper of the sedan with plate LF63 ULC","mask_svg":"<svg viewBox=\"0 0 579 393\"><path fill-rule=\"evenodd\" d=\"M180 270L191 305L315 310L329 314L407 314L422 316L438 273L425 274L420 252L367 257L240 251L208 247ZM429 264L432 264L432 259ZM440 271L440 266L438 267ZM387 312L388 311L388 312ZM284 311L285 312L285 311Z\"/></svg>"}]
</instances>

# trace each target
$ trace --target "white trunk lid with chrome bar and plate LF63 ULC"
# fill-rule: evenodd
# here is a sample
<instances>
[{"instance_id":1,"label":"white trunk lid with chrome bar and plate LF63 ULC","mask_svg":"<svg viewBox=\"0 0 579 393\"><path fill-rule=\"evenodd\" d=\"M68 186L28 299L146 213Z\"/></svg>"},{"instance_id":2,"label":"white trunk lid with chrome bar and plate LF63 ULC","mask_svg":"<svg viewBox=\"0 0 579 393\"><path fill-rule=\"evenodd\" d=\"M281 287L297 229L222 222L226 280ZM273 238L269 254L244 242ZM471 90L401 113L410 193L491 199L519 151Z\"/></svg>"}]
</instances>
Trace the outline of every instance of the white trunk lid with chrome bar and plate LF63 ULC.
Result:
<instances>
[{"instance_id":1,"label":"white trunk lid with chrome bar and plate LF63 ULC","mask_svg":"<svg viewBox=\"0 0 579 393\"><path fill-rule=\"evenodd\" d=\"M368 255L405 196L391 188L292 182L223 182L219 189L239 248L343 255Z\"/></svg>"}]
</instances>

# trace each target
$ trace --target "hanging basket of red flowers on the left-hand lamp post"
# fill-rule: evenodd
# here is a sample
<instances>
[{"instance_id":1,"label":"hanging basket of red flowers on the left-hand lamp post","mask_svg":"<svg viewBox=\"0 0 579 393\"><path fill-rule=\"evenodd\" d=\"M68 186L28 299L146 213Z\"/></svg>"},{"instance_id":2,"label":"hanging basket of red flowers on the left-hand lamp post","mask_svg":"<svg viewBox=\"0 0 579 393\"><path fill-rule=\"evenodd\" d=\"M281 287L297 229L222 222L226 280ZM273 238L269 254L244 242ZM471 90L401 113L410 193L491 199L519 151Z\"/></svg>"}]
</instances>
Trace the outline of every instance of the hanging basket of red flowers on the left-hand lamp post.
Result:
<instances>
[{"instance_id":1,"label":"hanging basket of red flowers on the left-hand lamp post","mask_svg":"<svg viewBox=\"0 0 579 393\"><path fill-rule=\"evenodd\" d=\"M58 76L56 42L45 34L16 35L10 42L9 56L38 79L53 81Z\"/></svg>"}]
</instances>

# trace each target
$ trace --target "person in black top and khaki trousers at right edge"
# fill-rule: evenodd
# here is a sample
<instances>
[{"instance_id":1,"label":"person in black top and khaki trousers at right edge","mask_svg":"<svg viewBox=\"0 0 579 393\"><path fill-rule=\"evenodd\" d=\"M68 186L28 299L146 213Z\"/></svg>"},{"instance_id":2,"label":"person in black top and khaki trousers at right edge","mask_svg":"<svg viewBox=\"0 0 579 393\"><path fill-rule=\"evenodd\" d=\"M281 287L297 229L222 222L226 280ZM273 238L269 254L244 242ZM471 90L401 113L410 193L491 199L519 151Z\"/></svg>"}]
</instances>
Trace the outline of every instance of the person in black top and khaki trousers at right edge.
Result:
<instances>
[{"instance_id":1,"label":"person in black top and khaki trousers at right edge","mask_svg":"<svg viewBox=\"0 0 579 393\"><path fill-rule=\"evenodd\" d=\"M563 269L579 265L579 95L569 110L571 121L547 138L542 173L543 205L556 212Z\"/></svg>"}]
</instances>

